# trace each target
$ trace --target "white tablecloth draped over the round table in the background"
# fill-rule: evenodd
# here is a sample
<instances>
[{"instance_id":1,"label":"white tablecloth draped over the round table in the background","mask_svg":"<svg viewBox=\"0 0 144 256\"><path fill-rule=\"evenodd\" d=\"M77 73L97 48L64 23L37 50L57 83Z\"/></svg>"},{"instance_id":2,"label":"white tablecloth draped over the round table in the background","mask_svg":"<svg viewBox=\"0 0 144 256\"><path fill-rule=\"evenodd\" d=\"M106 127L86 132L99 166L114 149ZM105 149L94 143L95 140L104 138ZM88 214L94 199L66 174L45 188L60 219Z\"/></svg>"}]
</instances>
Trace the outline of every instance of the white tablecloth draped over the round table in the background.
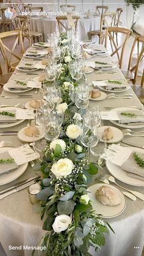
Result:
<instances>
[{"instance_id":1,"label":"white tablecloth draped over the round table in the background","mask_svg":"<svg viewBox=\"0 0 144 256\"><path fill-rule=\"evenodd\" d=\"M50 35L54 31L57 31L57 20L55 18L30 18L31 31L38 31L43 33L45 42L48 40L48 34ZM77 25L77 34L79 40L88 39L88 31L99 29L100 16L90 18L80 18Z\"/></svg>"}]
</instances>

